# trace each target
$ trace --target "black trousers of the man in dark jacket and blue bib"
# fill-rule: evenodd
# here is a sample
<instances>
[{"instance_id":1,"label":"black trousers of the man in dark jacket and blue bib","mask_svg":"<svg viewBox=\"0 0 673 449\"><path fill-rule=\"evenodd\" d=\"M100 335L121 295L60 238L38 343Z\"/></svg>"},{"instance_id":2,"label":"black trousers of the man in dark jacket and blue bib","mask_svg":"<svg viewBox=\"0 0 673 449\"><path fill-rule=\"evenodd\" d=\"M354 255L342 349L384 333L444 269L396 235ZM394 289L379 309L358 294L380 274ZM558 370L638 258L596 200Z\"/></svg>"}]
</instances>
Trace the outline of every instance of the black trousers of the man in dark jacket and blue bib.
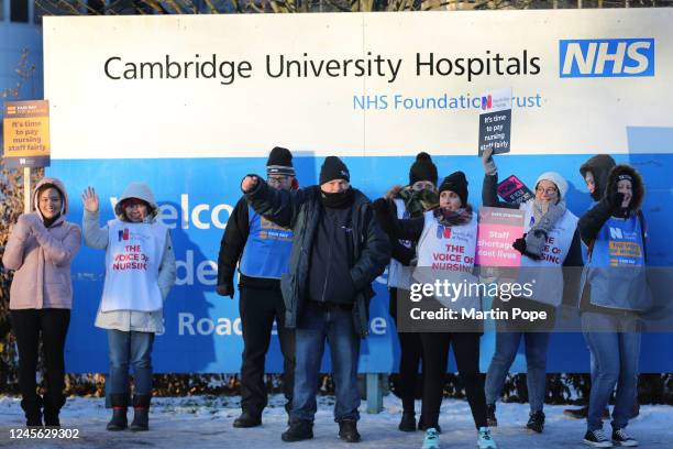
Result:
<instances>
[{"instance_id":1,"label":"black trousers of the man in dark jacket and blue bib","mask_svg":"<svg viewBox=\"0 0 673 449\"><path fill-rule=\"evenodd\" d=\"M239 311L243 330L241 408L261 415L266 407L264 364L275 320L283 353L283 393L287 399L285 408L289 410L295 386L295 331L285 327L285 303L280 289L241 285Z\"/></svg>"}]
</instances>

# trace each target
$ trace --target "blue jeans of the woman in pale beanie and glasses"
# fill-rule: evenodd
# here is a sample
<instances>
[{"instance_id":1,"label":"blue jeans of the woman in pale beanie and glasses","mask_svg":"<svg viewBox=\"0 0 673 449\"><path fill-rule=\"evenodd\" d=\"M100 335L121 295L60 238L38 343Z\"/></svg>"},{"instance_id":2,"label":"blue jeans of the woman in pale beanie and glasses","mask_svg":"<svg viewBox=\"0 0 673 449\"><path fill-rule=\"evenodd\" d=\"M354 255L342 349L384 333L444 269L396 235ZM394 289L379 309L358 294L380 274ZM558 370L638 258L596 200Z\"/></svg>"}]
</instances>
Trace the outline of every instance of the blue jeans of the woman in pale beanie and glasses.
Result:
<instances>
[{"instance_id":1,"label":"blue jeans of the woman in pale beanie and glasses","mask_svg":"<svg viewBox=\"0 0 673 449\"><path fill-rule=\"evenodd\" d=\"M486 403L493 405L500 397L505 377L517 355L519 342L525 338L526 382L531 412L542 412L547 394L547 348L549 332L496 333L496 349L486 374Z\"/></svg>"}]
</instances>

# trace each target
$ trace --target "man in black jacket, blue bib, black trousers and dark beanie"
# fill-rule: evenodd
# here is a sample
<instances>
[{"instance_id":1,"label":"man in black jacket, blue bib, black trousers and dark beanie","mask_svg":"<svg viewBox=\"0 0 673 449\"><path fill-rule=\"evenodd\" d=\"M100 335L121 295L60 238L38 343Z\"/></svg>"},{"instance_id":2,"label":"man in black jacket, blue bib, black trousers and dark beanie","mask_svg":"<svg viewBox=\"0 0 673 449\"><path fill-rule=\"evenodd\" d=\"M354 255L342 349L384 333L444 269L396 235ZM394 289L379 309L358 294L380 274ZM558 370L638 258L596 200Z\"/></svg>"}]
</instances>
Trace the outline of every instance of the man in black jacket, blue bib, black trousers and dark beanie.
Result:
<instances>
[{"instance_id":1,"label":"man in black jacket, blue bib, black trousers and dark beanie","mask_svg":"<svg viewBox=\"0 0 673 449\"><path fill-rule=\"evenodd\" d=\"M296 187L291 153L276 146L266 162L269 186L290 190ZM239 311L243 331L241 364L242 414L234 427L262 424L267 404L264 363L274 320L283 352L283 393L289 413L295 382L295 332L285 326L285 304L280 294L280 275L287 273L293 231L280 228L252 210L241 198L227 222L218 259L218 287L222 296L233 298L233 278L239 265Z\"/></svg>"}]
</instances>

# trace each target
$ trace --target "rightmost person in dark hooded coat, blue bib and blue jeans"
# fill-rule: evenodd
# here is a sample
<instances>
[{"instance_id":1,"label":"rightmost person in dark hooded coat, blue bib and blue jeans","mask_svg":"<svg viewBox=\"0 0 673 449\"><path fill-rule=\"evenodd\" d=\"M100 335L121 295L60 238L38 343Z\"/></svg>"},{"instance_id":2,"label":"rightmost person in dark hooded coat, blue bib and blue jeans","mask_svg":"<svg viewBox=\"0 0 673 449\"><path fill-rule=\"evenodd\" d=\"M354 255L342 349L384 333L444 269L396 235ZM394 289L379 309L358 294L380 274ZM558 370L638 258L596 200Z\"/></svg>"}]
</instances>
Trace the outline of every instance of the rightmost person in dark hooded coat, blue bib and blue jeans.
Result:
<instances>
[{"instance_id":1,"label":"rightmost person in dark hooded coat, blue bib and blue jeans","mask_svg":"<svg viewBox=\"0 0 673 449\"><path fill-rule=\"evenodd\" d=\"M617 165L604 197L577 225L588 247L583 277L582 329L594 361L587 430L592 447L635 447L625 430L632 414L640 358L640 314L651 306L647 283L647 225L640 209L644 186L638 172ZM603 432L602 414L617 387L611 440Z\"/></svg>"}]
</instances>

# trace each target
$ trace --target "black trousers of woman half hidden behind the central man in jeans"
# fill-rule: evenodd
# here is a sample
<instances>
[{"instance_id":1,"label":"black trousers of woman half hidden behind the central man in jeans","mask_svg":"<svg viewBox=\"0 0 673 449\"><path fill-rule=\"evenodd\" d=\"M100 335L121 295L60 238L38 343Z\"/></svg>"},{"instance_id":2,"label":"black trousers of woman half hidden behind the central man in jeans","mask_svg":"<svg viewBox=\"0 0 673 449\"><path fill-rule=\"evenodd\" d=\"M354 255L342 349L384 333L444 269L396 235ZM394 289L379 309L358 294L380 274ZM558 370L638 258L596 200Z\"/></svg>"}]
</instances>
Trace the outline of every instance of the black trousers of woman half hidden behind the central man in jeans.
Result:
<instances>
[{"instance_id":1,"label":"black trousers of woman half hidden behind the central man in jeans","mask_svg":"<svg viewBox=\"0 0 673 449\"><path fill-rule=\"evenodd\" d=\"M409 296L405 289L390 288L389 311L397 324L397 295ZM423 347L418 332L397 332L399 339L399 397L404 413L413 413L416 385L419 381L418 366L422 360Z\"/></svg>"}]
</instances>

